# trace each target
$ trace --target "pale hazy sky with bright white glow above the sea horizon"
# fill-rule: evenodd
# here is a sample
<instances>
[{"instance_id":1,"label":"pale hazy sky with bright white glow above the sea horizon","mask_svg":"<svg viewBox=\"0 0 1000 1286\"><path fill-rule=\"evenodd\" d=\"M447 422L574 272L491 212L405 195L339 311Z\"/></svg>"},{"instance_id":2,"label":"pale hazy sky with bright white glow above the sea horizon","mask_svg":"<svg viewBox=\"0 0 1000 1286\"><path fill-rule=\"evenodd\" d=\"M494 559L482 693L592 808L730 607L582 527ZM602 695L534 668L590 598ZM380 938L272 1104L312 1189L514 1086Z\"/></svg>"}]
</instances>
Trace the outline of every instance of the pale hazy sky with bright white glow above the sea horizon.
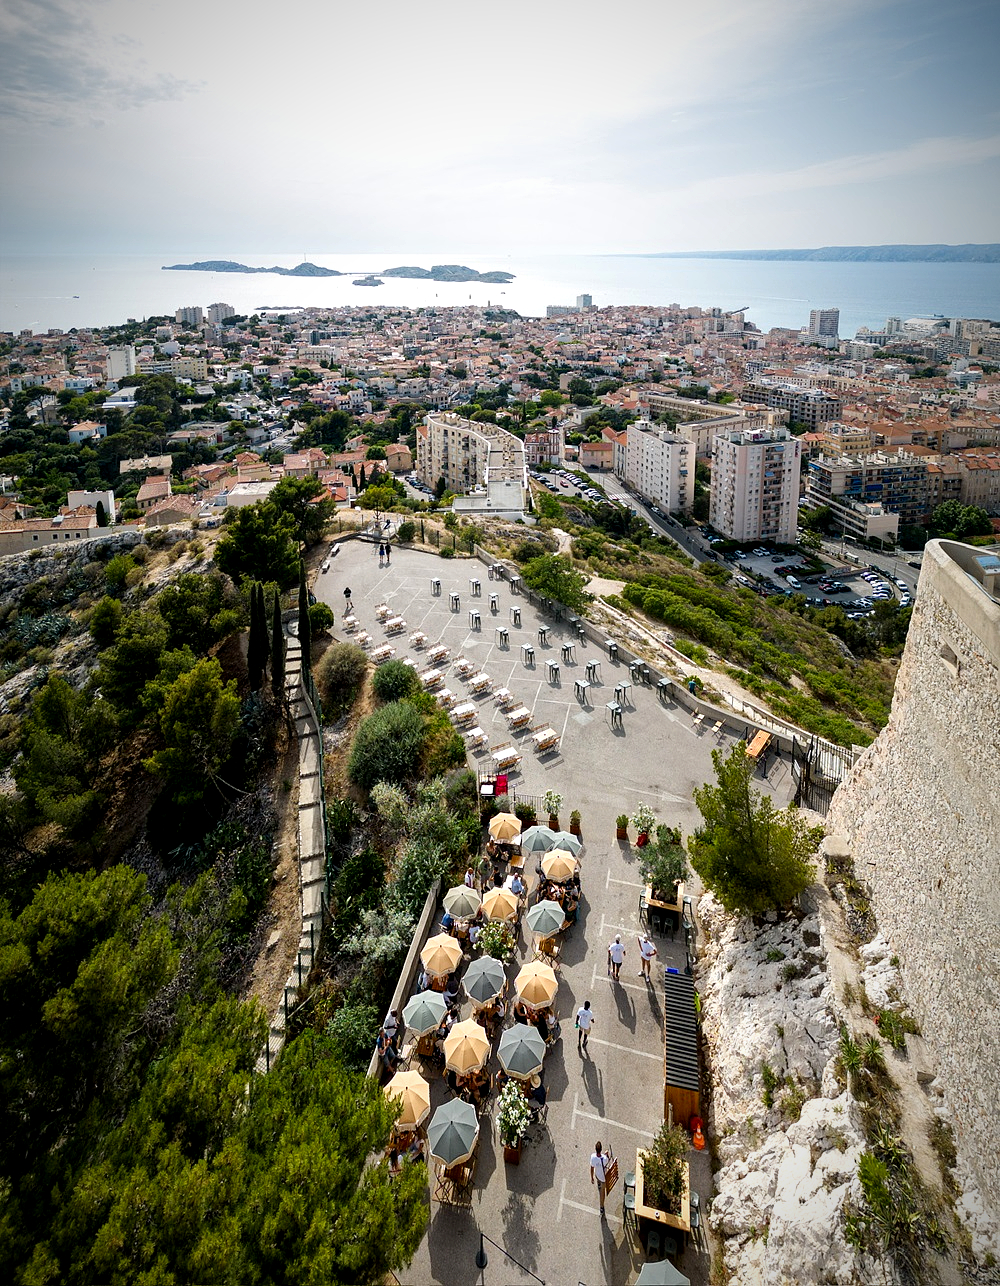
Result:
<instances>
[{"instance_id":1,"label":"pale hazy sky with bright white glow above the sea horizon","mask_svg":"<svg viewBox=\"0 0 1000 1286\"><path fill-rule=\"evenodd\" d=\"M0 42L6 253L1000 240L996 0L4 0Z\"/></svg>"}]
</instances>

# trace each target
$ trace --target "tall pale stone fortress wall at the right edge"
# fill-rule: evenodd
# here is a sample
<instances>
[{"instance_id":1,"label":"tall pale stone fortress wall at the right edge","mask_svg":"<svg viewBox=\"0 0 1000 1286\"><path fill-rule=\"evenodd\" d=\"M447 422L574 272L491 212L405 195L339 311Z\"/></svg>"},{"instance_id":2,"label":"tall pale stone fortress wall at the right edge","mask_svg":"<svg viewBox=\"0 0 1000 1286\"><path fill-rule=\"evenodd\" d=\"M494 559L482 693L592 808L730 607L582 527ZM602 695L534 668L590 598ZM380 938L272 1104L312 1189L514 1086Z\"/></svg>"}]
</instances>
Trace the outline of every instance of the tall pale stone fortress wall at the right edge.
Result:
<instances>
[{"instance_id":1,"label":"tall pale stone fortress wall at the right edge","mask_svg":"<svg viewBox=\"0 0 1000 1286\"><path fill-rule=\"evenodd\" d=\"M961 1151L1000 1211L1000 602L924 554L892 714L828 823L871 885Z\"/></svg>"}]
</instances>

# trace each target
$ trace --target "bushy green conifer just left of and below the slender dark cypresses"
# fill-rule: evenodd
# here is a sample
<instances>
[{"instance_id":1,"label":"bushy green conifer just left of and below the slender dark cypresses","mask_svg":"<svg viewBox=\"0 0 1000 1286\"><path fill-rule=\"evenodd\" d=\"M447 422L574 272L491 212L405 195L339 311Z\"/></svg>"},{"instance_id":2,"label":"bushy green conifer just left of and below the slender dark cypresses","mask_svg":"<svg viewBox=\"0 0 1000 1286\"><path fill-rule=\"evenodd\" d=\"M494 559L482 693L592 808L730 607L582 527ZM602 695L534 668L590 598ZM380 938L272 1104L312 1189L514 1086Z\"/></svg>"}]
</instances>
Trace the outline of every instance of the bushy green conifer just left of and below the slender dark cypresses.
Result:
<instances>
[{"instance_id":1,"label":"bushy green conifer just left of and below the slender dark cypresses","mask_svg":"<svg viewBox=\"0 0 1000 1286\"><path fill-rule=\"evenodd\" d=\"M234 680L215 658L201 660L170 687L159 715L165 747L143 761L167 781L177 804L197 802L229 757L239 727Z\"/></svg>"}]
</instances>

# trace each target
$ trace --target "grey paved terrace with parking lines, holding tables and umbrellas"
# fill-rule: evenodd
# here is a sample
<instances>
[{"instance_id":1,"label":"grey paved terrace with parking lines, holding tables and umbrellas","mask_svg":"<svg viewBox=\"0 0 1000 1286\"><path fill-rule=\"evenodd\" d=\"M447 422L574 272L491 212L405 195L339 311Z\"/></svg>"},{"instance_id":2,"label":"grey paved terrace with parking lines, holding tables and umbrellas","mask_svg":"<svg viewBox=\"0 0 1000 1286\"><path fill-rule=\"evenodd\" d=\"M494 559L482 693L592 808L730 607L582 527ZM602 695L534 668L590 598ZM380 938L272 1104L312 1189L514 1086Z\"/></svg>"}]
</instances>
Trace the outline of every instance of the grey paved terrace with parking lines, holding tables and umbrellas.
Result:
<instances>
[{"instance_id":1,"label":"grey paved terrace with parking lines, holding tables and umbrellas","mask_svg":"<svg viewBox=\"0 0 1000 1286\"><path fill-rule=\"evenodd\" d=\"M432 577L441 579L441 594L433 595ZM470 595L469 581L479 577L482 597ZM495 1286L521 1286L531 1278L487 1245L490 1265L479 1274L473 1259L479 1229L505 1246L512 1255L542 1278L548 1286L627 1286L644 1260L643 1249L621 1220L621 1184L608 1199L608 1219L602 1222L596 1190L590 1184L590 1154L600 1138L620 1157L622 1175L635 1168L635 1150L644 1146L663 1119L662 972L658 985L648 986L639 976L636 932L639 927L640 880L638 854L614 838L618 813L631 814L641 801L650 804L661 820L680 826L685 835L698 824L692 791L713 777L711 751L729 745L743 728L729 725L728 734L712 736L708 719L694 727L692 714L676 703L665 705L656 687L635 684L626 703L621 728L612 729L607 702L614 685L629 682L629 666L613 662L594 643L581 642L566 624L540 616L508 581L487 579L477 559L442 559L432 554L395 549L392 565L379 570L377 550L362 541L344 541L330 571L316 577L317 597L343 617L344 585L350 585L355 615L373 639L386 640L375 606L386 602L406 621L406 630L393 640L396 656L418 660L423 652L409 647L414 630L427 634L425 647L441 640L452 657L474 660L494 680L508 687L533 711L532 723L548 723L562 736L559 751L537 756L530 737L512 736L491 697L478 700L479 724L492 745L521 745L522 761L512 774L517 792L542 795L555 790L563 796L560 820L569 822L575 808L582 814L581 855L584 899L580 921L568 935L557 1007L563 1021L562 1040L545 1060L549 1092L548 1124L542 1137L530 1143L521 1165L506 1165L496 1142L492 1121L483 1118L476 1182L470 1209L431 1205L427 1237L409 1269L400 1273L402 1286L470 1286L485 1281ZM459 594L458 610L451 593ZM490 611L490 594L499 598L499 612ZM521 626L512 622L512 608L521 610ZM473 629L469 611L479 611L482 628ZM548 644L539 643L539 626L549 628ZM497 643L496 628L509 631L509 647ZM337 630L341 637L339 630ZM564 643L576 644L572 661L562 660ZM522 661L522 644L535 646L533 667ZM559 682L549 679L546 661L560 665ZM599 661L596 682L586 698L575 693L587 661ZM467 684L449 666L446 684L460 697ZM524 745L527 742L527 745ZM473 765L488 766L487 755L470 756ZM770 788L775 802L784 805L792 793L787 760L771 769ZM533 863L528 860L528 869ZM614 934L627 948L621 983L607 976L607 946ZM684 967L683 934L676 941L656 937L662 967ZM530 958L523 940L517 964ZM653 971L654 984L657 970ZM590 999L596 1015L586 1057L577 1053L573 1016ZM463 1013L463 1016L465 1016ZM433 1102L445 1098L443 1082L433 1085ZM703 1201L711 1188L707 1152L690 1154L692 1183ZM703 1242L704 1245L704 1242ZM707 1283L708 1255L693 1244L676 1260L693 1283Z\"/></svg>"}]
</instances>

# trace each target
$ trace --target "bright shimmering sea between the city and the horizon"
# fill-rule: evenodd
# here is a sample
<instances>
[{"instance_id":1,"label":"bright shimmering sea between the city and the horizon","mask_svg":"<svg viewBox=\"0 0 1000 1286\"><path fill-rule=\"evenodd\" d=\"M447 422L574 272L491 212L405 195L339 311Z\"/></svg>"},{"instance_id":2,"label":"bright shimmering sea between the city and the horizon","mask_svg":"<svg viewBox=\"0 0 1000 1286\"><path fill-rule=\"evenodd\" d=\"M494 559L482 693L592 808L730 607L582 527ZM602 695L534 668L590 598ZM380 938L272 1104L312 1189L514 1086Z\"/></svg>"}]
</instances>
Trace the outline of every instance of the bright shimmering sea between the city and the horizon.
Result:
<instances>
[{"instance_id":1,"label":"bright shimmering sea between the city and the horizon","mask_svg":"<svg viewBox=\"0 0 1000 1286\"><path fill-rule=\"evenodd\" d=\"M204 249L171 255L4 256L0 261L0 329L45 332L172 315L177 307L225 302L238 312L261 309L371 303L406 307L491 305L544 316L548 305L746 307L758 329L801 328L811 309L839 307L841 336L878 329L888 316L961 316L1000 320L1000 264L830 264L767 260L661 258L643 255L476 256L377 252L364 255L233 255L253 266L293 267L307 258L344 276L175 273L165 264L222 257ZM378 287L355 278L413 264L461 262L479 273L512 273L506 285L452 284L384 278Z\"/></svg>"}]
</instances>

